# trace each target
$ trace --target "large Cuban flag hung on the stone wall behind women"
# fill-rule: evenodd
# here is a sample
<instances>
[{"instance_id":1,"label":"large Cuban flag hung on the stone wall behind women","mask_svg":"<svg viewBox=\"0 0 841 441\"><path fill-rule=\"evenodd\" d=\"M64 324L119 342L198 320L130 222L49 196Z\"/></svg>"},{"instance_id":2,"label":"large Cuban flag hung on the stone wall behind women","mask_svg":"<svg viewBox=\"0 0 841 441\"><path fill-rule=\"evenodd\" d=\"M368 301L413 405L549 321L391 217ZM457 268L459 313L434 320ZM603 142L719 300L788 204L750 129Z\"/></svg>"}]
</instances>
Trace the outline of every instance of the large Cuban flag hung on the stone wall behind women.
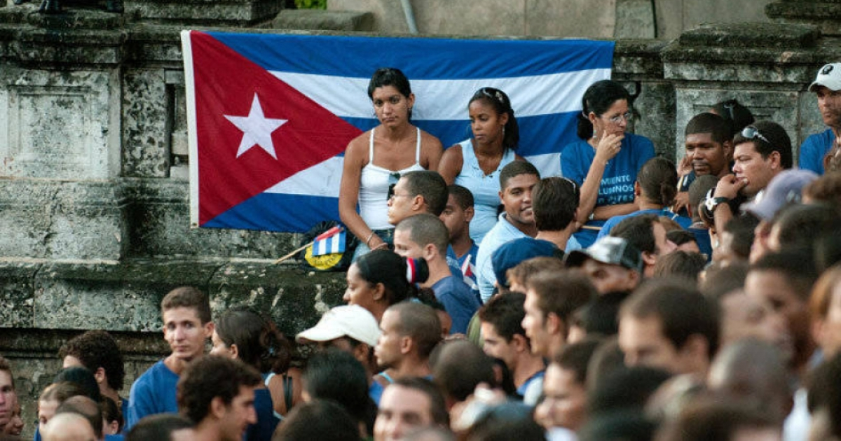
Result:
<instances>
[{"instance_id":1,"label":"large Cuban flag hung on the stone wall behind women","mask_svg":"<svg viewBox=\"0 0 841 441\"><path fill-rule=\"evenodd\" d=\"M409 77L412 123L445 146L471 137L468 100L497 87L517 152L560 175L581 97L610 77L613 43L183 31L193 226L303 232L338 220L343 152L378 124L368 81Z\"/></svg>"}]
</instances>

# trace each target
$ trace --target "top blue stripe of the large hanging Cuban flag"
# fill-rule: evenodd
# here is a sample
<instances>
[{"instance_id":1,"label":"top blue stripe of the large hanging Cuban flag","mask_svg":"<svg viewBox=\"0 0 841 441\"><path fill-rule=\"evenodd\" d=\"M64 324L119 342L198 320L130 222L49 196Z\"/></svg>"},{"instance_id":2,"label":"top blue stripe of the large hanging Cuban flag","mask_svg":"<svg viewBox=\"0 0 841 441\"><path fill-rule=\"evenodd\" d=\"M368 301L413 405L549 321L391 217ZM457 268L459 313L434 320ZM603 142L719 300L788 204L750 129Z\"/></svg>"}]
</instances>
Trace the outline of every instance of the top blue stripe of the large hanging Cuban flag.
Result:
<instances>
[{"instance_id":1,"label":"top blue stripe of the large hanging Cuban flag","mask_svg":"<svg viewBox=\"0 0 841 441\"><path fill-rule=\"evenodd\" d=\"M532 76L610 69L612 41L344 37L210 32L269 71L370 78L393 66L410 80ZM609 48L610 50L604 50ZM505 52L505 57L498 56ZM336 55L339 56L336 56ZM453 63L453 59L458 63Z\"/></svg>"}]
</instances>

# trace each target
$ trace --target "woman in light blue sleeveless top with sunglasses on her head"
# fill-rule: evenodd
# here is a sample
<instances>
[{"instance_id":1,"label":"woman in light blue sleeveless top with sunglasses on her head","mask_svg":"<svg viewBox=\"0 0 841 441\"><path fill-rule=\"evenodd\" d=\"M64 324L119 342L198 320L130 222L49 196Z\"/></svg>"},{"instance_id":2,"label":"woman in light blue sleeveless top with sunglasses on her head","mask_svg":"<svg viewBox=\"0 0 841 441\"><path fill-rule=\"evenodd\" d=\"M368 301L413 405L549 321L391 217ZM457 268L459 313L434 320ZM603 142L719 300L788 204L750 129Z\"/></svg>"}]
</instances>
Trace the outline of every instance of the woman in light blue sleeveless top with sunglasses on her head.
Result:
<instances>
[{"instance_id":1,"label":"woman in light blue sleeveless top with sunglasses on her head","mask_svg":"<svg viewBox=\"0 0 841 441\"><path fill-rule=\"evenodd\" d=\"M470 238L480 244L484 234L496 224L500 207L500 171L516 155L520 129L514 109L505 92L482 87L468 102L473 138L453 145L441 159L444 181L468 188L473 193L473 219Z\"/></svg>"}]
</instances>

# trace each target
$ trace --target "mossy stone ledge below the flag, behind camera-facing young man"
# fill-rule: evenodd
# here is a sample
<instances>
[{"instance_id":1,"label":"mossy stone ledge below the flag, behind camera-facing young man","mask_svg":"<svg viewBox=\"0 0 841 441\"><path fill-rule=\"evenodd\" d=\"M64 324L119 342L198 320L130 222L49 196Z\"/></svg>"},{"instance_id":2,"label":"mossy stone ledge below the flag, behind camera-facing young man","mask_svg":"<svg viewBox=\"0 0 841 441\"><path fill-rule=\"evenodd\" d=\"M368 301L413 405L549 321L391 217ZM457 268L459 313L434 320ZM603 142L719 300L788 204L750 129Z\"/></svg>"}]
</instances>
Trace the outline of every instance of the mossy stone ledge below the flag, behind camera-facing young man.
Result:
<instances>
[{"instance_id":1,"label":"mossy stone ledge below the flag, behind camera-facing young man","mask_svg":"<svg viewBox=\"0 0 841 441\"><path fill-rule=\"evenodd\" d=\"M287 335L341 303L344 273L267 260L0 261L0 327L157 332L160 302L177 286L208 293L214 314L248 304ZM0 339L2 342L2 339Z\"/></svg>"}]
</instances>

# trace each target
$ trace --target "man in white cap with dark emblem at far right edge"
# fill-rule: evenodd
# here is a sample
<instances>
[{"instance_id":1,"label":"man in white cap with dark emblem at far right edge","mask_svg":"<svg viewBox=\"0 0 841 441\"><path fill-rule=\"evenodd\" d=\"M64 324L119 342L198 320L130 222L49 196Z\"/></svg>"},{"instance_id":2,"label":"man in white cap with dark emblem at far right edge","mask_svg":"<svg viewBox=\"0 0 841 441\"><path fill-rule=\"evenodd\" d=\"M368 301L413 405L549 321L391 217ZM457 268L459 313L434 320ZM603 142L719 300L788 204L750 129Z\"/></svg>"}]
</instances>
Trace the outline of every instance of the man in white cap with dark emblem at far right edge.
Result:
<instances>
[{"instance_id":1,"label":"man in white cap with dark emblem at far right edge","mask_svg":"<svg viewBox=\"0 0 841 441\"><path fill-rule=\"evenodd\" d=\"M841 130L841 63L830 63L817 71L815 81L809 85L809 92L817 95L817 109L829 128L803 141L798 164L801 169L822 175L825 158L828 159L830 153L841 151L841 137L838 137Z\"/></svg>"}]
</instances>

